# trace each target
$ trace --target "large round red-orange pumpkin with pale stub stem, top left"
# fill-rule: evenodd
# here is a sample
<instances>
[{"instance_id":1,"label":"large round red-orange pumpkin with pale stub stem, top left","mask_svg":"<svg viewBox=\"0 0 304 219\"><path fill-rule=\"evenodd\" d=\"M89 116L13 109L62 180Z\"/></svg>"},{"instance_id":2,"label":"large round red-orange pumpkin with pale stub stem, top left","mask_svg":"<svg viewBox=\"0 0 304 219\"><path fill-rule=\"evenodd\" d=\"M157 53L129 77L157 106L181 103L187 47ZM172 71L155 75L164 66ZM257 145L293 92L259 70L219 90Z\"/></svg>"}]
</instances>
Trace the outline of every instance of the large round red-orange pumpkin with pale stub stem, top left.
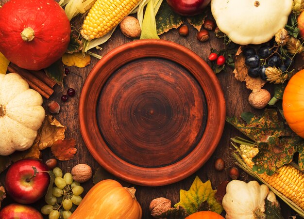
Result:
<instances>
[{"instance_id":1,"label":"large round red-orange pumpkin with pale stub stem, top left","mask_svg":"<svg viewBox=\"0 0 304 219\"><path fill-rule=\"evenodd\" d=\"M39 70L65 53L71 27L55 0L10 0L0 8L0 52L19 67Z\"/></svg>"}]
</instances>

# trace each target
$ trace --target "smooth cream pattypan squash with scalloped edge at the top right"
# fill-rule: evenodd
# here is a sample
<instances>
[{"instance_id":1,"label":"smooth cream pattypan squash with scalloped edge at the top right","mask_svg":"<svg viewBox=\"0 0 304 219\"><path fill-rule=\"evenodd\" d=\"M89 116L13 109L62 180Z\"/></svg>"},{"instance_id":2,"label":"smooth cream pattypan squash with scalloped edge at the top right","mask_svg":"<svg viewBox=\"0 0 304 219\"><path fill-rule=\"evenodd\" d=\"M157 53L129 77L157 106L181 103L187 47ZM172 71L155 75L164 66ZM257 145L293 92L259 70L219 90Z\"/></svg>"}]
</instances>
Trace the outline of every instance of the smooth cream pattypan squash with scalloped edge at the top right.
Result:
<instances>
[{"instance_id":1,"label":"smooth cream pattypan squash with scalloped edge at the top right","mask_svg":"<svg viewBox=\"0 0 304 219\"><path fill-rule=\"evenodd\" d=\"M234 43L261 44L284 28L292 0L211 0L216 23Z\"/></svg>"}]
</instances>

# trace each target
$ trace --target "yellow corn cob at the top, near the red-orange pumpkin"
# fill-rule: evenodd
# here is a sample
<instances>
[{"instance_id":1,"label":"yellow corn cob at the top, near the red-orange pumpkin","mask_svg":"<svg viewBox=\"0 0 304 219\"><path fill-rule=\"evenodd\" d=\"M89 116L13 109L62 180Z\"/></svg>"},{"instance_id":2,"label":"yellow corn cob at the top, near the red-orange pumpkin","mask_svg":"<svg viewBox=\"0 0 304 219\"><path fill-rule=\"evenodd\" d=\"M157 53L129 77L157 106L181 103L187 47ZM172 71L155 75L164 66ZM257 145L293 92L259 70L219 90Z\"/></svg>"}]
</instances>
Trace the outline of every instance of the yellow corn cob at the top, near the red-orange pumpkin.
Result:
<instances>
[{"instance_id":1,"label":"yellow corn cob at the top, near the red-orange pumpkin","mask_svg":"<svg viewBox=\"0 0 304 219\"><path fill-rule=\"evenodd\" d=\"M81 35L86 40L110 32L127 16L140 0L96 0L85 17Z\"/></svg>"}]
</instances>

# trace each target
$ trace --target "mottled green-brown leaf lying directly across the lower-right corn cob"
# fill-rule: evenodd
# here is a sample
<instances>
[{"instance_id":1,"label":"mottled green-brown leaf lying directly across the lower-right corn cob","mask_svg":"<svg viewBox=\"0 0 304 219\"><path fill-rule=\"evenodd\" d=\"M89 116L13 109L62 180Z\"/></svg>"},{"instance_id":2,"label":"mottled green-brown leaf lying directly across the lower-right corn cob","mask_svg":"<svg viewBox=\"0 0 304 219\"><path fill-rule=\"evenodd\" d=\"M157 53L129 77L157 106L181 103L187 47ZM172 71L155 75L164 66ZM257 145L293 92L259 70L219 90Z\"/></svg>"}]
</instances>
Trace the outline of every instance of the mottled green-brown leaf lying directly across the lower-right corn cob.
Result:
<instances>
[{"instance_id":1,"label":"mottled green-brown leaf lying directly across the lower-right corn cob","mask_svg":"<svg viewBox=\"0 0 304 219\"><path fill-rule=\"evenodd\" d=\"M297 151L297 144L300 142L300 138L279 138L277 136L270 136L268 142L257 142L259 153L252 159L253 171L272 175L284 164L292 161L293 155Z\"/></svg>"}]
</instances>

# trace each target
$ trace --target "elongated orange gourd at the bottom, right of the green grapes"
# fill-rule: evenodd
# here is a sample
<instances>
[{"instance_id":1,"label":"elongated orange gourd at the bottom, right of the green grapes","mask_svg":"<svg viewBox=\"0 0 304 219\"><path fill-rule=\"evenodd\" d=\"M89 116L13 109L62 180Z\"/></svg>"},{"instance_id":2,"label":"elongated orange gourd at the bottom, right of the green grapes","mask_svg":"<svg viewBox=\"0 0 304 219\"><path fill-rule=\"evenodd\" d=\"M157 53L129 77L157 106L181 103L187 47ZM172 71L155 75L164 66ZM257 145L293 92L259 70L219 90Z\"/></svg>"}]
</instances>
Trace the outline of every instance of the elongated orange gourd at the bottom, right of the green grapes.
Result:
<instances>
[{"instance_id":1,"label":"elongated orange gourd at the bottom, right of the green grapes","mask_svg":"<svg viewBox=\"0 0 304 219\"><path fill-rule=\"evenodd\" d=\"M134 194L135 188L102 180L88 191L69 219L141 219L142 210Z\"/></svg>"}]
</instances>

